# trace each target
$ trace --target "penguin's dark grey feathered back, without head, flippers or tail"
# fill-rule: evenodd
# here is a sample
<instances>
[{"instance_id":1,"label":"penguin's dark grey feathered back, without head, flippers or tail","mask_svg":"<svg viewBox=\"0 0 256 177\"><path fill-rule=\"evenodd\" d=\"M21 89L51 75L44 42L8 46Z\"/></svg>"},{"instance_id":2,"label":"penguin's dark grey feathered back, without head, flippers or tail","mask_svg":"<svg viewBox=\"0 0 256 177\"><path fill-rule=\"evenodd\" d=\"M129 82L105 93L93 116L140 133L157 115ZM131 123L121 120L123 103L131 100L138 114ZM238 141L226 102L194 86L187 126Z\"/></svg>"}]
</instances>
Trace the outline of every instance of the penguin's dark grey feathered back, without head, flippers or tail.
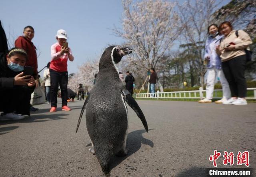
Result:
<instances>
[{"instance_id":1,"label":"penguin's dark grey feathered back, without head, flippers or tail","mask_svg":"<svg viewBox=\"0 0 256 177\"><path fill-rule=\"evenodd\" d=\"M90 101L86 106L86 126L90 139L94 143L97 156L109 147L116 153L122 147L127 129L127 114L119 76L115 68L103 68L99 71L94 88L90 91Z\"/></svg>"}]
</instances>

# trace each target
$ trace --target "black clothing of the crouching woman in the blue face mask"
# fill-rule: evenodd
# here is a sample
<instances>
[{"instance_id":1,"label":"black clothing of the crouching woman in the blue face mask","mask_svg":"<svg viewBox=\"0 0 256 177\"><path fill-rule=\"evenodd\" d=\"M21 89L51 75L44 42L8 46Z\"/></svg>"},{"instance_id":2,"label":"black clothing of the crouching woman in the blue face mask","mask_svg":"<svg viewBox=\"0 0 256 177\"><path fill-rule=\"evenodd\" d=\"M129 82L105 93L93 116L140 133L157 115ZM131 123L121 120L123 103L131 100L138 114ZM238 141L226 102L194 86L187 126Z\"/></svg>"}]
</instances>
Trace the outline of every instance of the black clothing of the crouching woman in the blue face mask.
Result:
<instances>
[{"instance_id":1,"label":"black clothing of the crouching woman in the blue face mask","mask_svg":"<svg viewBox=\"0 0 256 177\"><path fill-rule=\"evenodd\" d=\"M14 86L14 77L20 72L8 68L6 54L0 54L0 111L30 115L30 97L34 87Z\"/></svg>"}]
</instances>

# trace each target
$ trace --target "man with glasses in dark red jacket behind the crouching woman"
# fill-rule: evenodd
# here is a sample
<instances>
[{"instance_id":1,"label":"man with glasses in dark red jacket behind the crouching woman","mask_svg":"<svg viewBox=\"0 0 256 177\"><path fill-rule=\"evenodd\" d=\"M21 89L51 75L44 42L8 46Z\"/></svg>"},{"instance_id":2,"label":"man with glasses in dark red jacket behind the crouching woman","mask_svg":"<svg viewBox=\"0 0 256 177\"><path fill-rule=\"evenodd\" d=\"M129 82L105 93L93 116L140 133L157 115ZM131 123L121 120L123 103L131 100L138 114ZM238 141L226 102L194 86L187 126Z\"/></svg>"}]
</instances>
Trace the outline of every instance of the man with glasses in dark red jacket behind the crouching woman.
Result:
<instances>
[{"instance_id":1,"label":"man with glasses in dark red jacket behind the crouching woman","mask_svg":"<svg viewBox=\"0 0 256 177\"><path fill-rule=\"evenodd\" d=\"M15 47L24 49L28 54L28 60L26 66L31 66L34 68L33 77L37 79L37 55L36 55L36 46L34 46L32 39L34 38L35 30L32 26L26 26L23 30L23 36L19 36L15 40ZM37 83L38 85L38 83ZM30 105L30 111L38 111L38 108Z\"/></svg>"}]
</instances>

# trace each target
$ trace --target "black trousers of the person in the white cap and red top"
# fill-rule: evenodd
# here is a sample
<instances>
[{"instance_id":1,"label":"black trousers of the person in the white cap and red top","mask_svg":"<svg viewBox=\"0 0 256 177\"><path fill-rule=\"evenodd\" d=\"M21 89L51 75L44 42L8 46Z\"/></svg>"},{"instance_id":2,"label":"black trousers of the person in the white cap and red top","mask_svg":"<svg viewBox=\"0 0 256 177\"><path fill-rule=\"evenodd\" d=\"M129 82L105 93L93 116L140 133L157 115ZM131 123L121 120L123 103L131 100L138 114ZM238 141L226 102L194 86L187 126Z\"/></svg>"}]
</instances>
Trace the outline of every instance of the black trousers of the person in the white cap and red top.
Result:
<instances>
[{"instance_id":1,"label":"black trousers of the person in the white cap and red top","mask_svg":"<svg viewBox=\"0 0 256 177\"><path fill-rule=\"evenodd\" d=\"M57 107L58 86L60 84L62 106L67 105L68 101L68 72L56 72L50 69L51 77L51 106Z\"/></svg>"}]
</instances>

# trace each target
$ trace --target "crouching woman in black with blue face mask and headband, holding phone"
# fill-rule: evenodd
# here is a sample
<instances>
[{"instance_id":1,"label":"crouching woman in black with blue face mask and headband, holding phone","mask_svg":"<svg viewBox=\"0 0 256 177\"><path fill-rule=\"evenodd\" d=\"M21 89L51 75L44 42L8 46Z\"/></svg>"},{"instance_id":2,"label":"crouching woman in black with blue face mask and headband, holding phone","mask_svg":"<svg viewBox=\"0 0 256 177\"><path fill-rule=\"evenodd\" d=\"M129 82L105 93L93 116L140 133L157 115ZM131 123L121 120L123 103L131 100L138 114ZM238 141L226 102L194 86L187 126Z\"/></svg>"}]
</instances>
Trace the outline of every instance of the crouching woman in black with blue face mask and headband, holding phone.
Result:
<instances>
[{"instance_id":1,"label":"crouching woman in black with blue face mask and headband, holding phone","mask_svg":"<svg viewBox=\"0 0 256 177\"><path fill-rule=\"evenodd\" d=\"M0 54L0 120L24 119L30 115L30 95L35 88L33 76L23 76L28 56L21 48Z\"/></svg>"}]
</instances>

